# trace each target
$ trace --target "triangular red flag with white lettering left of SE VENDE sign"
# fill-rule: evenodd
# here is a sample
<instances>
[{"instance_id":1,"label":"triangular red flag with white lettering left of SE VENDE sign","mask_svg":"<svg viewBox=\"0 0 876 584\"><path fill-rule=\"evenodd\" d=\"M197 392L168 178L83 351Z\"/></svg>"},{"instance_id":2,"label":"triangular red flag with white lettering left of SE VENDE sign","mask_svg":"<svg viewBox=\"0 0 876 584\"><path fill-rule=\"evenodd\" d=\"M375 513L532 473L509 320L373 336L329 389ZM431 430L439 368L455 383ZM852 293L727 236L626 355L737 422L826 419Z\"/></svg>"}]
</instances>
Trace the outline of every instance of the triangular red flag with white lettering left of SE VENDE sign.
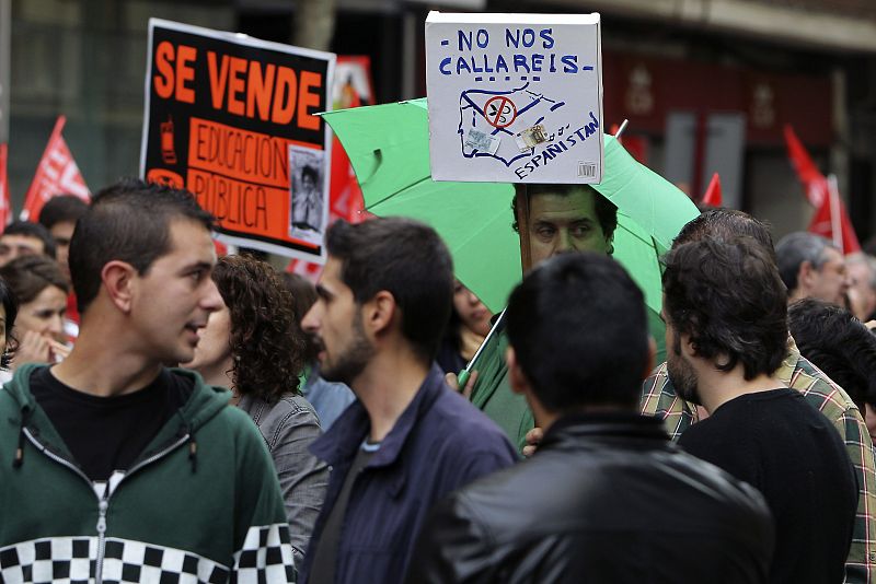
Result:
<instances>
[{"instance_id":1,"label":"triangular red flag with white lettering left of SE VENDE sign","mask_svg":"<svg viewBox=\"0 0 876 584\"><path fill-rule=\"evenodd\" d=\"M55 122L46 151L43 152L34 180L24 198L22 220L35 221L46 201L58 195L74 195L85 202L91 199L82 173L79 172L79 166L76 165L73 155L61 136L67 118L58 116L58 121Z\"/></svg>"}]
</instances>

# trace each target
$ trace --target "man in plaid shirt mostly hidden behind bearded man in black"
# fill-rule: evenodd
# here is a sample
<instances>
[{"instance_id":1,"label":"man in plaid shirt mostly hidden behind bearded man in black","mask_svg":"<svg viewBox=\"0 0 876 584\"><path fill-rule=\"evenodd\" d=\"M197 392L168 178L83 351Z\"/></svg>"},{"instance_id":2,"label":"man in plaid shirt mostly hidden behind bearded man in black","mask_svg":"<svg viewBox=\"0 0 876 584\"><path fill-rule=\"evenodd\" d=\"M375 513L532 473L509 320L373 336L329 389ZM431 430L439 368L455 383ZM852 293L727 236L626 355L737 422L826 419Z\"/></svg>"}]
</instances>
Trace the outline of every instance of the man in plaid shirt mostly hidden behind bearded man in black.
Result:
<instances>
[{"instance_id":1,"label":"man in plaid shirt mostly hidden behind bearded man in black","mask_svg":"<svg viewBox=\"0 0 876 584\"><path fill-rule=\"evenodd\" d=\"M774 258L772 236L766 224L733 209L711 209L685 224L676 237L673 247L705 238L731 241L747 235L757 241L763 252ZM830 421L845 443L845 451L855 468L858 488L854 537L845 562L845 582L869 583L876 569L876 459L873 441L862 414L849 394L821 370L800 354L788 335L785 359L775 373L788 387L803 394L807 404ZM661 364L642 385L642 413L657 416L667 427L672 440L678 440L699 420L696 407L680 398Z\"/></svg>"}]
</instances>

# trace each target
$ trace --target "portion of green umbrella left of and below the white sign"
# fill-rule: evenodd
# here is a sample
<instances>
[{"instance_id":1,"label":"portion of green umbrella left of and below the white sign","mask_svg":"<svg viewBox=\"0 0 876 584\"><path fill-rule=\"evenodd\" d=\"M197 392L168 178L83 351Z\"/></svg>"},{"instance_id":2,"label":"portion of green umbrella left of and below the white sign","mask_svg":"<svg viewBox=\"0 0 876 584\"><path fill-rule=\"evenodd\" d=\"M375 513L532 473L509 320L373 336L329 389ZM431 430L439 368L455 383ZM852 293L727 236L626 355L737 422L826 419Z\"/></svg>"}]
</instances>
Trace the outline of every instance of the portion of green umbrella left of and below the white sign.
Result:
<instances>
[{"instance_id":1,"label":"portion of green umbrella left of and below the white sign","mask_svg":"<svg viewBox=\"0 0 876 584\"><path fill-rule=\"evenodd\" d=\"M514 186L433 180L426 100L323 116L353 163L365 208L435 227L453 255L457 278L491 311L502 311L521 271L520 240L511 229Z\"/></svg>"}]
</instances>

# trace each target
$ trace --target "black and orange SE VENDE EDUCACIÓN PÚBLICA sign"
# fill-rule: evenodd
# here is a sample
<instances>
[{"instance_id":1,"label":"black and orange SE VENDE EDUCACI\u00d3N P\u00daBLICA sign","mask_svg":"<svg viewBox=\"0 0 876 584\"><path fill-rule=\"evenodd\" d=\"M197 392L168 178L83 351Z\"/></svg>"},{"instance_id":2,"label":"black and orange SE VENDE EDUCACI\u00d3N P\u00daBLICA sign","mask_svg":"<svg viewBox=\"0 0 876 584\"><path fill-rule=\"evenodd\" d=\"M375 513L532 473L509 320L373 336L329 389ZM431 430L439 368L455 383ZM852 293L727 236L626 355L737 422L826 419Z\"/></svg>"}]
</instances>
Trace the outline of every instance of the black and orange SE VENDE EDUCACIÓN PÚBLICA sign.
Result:
<instances>
[{"instance_id":1,"label":"black and orange SE VENDE EDUCACI\u00d3N P\u00daBLICA sign","mask_svg":"<svg viewBox=\"0 0 876 584\"><path fill-rule=\"evenodd\" d=\"M228 244L322 262L335 56L151 19L140 174Z\"/></svg>"}]
</instances>

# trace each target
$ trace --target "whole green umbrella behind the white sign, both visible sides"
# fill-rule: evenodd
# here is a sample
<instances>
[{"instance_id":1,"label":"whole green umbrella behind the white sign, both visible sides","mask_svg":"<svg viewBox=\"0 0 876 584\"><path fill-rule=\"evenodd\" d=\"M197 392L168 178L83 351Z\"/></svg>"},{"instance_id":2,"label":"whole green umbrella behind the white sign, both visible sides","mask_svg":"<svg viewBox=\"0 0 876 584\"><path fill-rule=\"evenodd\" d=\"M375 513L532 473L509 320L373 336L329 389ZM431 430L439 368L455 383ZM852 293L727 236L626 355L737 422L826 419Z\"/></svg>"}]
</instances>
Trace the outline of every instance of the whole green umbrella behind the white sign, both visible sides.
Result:
<instances>
[{"instance_id":1,"label":"whole green umbrella behind the white sign, both visible sides","mask_svg":"<svg viewBox=\"0 0 876 584\"><path fill-rule=\"evenodd\" d=\"M457 278L491 311L502 311L521 279L520 242L511 229L514 187L433 180L426 100L324 116L353 163L366 209L430 224L453 255ZM614 257L644 291L654 318L661 304L658 258L696 217L696 207L611 136L606 136L603 180L592 186L618 207Z\"/></svg>"}]
</instances>

